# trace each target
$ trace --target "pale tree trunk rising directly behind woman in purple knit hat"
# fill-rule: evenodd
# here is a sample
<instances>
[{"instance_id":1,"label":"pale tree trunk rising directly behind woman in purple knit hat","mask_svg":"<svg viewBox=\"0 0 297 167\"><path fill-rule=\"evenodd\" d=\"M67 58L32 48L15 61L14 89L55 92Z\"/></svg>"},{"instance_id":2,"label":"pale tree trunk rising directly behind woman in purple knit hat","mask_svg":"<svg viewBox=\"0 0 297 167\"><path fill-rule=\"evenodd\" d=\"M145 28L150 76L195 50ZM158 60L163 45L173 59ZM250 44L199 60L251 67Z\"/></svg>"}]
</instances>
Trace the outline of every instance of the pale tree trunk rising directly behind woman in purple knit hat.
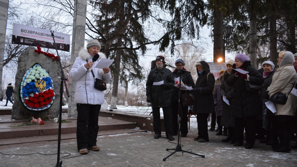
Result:
<instances>
[{"instance_id":1,"label":"pale tree trunk rising directly behind woman in purple knit hat","mask_svg":"<svg viewBox=\"0 0 297 167\"><path fill-rule=\"evenodd\" d=\"M249 60L257 68L257 21L256 12L252 11L249 18Z\"/></svg>"}]
</instances>

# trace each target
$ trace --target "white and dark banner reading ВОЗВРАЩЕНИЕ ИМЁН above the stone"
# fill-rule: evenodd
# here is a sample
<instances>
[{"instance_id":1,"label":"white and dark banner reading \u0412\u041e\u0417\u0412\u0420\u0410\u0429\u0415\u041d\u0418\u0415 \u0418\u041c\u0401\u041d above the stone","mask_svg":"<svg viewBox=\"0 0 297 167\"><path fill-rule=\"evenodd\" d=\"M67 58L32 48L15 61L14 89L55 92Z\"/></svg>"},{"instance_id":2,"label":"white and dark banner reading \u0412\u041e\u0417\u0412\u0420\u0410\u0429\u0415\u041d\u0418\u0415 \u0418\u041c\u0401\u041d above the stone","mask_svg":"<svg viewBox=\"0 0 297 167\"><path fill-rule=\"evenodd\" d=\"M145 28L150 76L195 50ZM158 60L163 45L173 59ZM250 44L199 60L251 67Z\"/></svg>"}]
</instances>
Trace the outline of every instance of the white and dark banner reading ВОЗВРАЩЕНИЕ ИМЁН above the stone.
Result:
<instances>
[{"instance_id":1,"label":"white and dark banner reading \u0412\u041e\u0417\u0412\u0420\u0410\u0429\u0415\u041d\u0418\u0415 \u0418\u041c\u0401\u041d above the stone","mask_svg":"<svg viewBox=\"0 0 297 167\"><path fill-rule=\"evenodd\" d=\"M54 32L54 38L58 50L69 52L70 35L61 32ZM13 23L12 43L56 49L50 30L25 26L17 23Z\"/></svg>"}]
</instances>

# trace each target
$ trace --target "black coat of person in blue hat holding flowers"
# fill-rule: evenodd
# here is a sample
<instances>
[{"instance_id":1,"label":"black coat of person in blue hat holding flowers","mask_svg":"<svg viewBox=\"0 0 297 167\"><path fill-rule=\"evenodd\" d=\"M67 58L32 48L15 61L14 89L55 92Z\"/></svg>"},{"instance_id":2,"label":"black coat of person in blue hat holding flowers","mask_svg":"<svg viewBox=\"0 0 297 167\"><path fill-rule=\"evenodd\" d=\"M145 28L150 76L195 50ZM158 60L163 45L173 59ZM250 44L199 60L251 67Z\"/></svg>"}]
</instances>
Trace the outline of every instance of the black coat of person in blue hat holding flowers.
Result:
<instances>
[{"instance_id":1,"label":"black coat of person in blue hat holding flowers","mask_svg":"<svg viewBox=\"0 0 297 167\"><path fill-rule=\"evenodd\" d=\"M173 78L178 78L179 77L179 75L177 73L177 70L174 70L172 72L172 76L173 76ZM187 73L187 72L182 71L181 72L181 81L184 84L186 84L187 86L192 86L192 88L194 88L194 86L195 86L195 83L193 81L191 73ZM186 92L185 90L181 90L181 95L184 94L185 92ZM176 87L176 86L173 86L173 90L172 90L172 93L171 93L171 101L172 102L178 102L178 87Z\"/></svg>"}]
</instances>

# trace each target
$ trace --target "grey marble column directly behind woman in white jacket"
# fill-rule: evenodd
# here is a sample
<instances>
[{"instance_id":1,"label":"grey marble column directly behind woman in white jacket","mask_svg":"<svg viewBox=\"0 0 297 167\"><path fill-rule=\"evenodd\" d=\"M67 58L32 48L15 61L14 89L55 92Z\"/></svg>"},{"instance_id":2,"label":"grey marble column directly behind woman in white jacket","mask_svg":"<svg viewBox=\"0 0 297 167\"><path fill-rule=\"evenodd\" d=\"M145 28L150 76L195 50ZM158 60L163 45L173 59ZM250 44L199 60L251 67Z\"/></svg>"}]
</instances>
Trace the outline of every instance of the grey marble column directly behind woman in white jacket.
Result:
<instances>
[{"instance_id":1,"label":"grey marble column directly behind woman in white jacket","mask_svg":"<svg viewBox=\"0 0 297 167\"><path fill-rule=\"evenodd\" d=\"M75 59L78 57L80 48L83 48L85 45L86 12L87 12L87 1L74 0L71 67ZM68 98L68 117L77 116L76 103L74 102L75 86L76 86L76 81L72 81L72 79L70 79L69 81L70 97Z\"/></svg>"}]
</instances>

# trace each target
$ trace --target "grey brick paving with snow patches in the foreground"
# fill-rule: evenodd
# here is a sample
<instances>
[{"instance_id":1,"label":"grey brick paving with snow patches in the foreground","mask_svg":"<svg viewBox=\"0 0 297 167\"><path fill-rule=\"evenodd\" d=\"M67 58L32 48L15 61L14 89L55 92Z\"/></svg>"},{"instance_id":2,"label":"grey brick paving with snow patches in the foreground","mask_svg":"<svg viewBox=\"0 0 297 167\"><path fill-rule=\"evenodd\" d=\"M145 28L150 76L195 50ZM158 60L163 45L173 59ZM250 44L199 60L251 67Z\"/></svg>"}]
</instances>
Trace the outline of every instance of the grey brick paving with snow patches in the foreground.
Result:
<instances>
[{"instance_id":1,"label":"grey brick paving with snow patches in the foreground","mask_svg":"<svg viewBox=\"0 0 297 167\"><path fill-rule=\"evenodd\" d=\"M166 161L164 157L173 151L166 148L175 148L175 141L164 137L154 139L153 133L125 133L119 135L99 136L97 145L100 151L90 151L89 154L79 156L76 139L62 140L61 152L69 153L62 160L62 166L297 166L297 150L291 153L273 152L270 146L260 144L256 140L253 149L244 146L234 147L233 144L222 143L225 136L216 136L215 131L208 132L210 142L199 143L197 129L191 128L186 138L181 138L182 149L205 155L205 158L189 153L176 152ZM293 145L293 144L292 144ZM57 141L39 141L35 143L12 144L0 146L0 166L55 166L57 155ZM31 153L42 153L31 154ZM31 154L31 155L22 155ZM61 154L61 157L66 154ZM79 156L79 157L75 157ZM67 159L66 159L67 158Z\"/></svg>"}]
</instances>

